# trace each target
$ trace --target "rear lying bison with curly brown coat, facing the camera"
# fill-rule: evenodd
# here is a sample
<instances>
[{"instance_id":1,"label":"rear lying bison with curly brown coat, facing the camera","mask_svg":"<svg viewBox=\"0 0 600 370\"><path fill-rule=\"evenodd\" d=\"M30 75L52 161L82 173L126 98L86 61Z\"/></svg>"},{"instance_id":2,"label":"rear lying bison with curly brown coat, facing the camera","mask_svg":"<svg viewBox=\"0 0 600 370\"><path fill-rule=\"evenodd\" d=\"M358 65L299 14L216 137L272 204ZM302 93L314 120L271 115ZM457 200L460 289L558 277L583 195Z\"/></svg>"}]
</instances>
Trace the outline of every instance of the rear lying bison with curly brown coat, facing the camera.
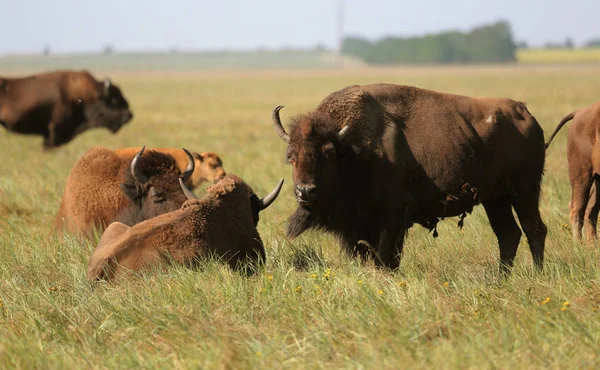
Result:
<instances>
[{"instance_id":1,"label":"rear lying bison with curly brown coat, facing the camera","mask_svg":"<svg viewBox=\"0 0 600 370\"><path fill-rule=\"evenodd\" d=\"M84 154L67 178L56 228L90 236L114 221L133 225L180 208L186 197L178 178L194 172L192 155L185 151L182 174L171 155L144 149L131 157L100 147Z\"/></svg>"}]
</instances>

